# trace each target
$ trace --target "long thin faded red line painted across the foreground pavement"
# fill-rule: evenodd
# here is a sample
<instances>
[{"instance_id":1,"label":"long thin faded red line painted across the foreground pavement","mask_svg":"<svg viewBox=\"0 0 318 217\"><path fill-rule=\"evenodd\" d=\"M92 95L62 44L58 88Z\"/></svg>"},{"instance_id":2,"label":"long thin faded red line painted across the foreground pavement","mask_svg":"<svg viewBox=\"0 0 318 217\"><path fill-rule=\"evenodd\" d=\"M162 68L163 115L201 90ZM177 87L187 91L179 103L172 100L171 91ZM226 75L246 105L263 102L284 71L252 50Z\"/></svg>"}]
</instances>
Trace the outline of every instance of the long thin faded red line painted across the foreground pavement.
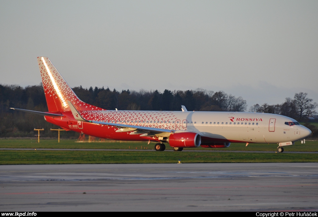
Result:
<instances>
[{"instance_id":1,"label":"long thin faded red line painted across the foreground pavement","mask_svg":"<svg viewBox=\"0 0 318 217\"><path fill-rule=\"evenodd\" d=\"M318 186L318 184L306 184L307 186ZM269 186L219 186L219 187L169 187L169 188L136 188L136 189L105 189L105 190L78 190L78 191L45 191L45 192L17 192L3 193L5 195L12 194L60 194L60 193L82 193L84 192L106 192L106 191L149 191L149 190L178 190L178 189L213 189L213 188L259 188L259 187L299 187L297 185L269 185Z\"/></svg>"}]
</instances>

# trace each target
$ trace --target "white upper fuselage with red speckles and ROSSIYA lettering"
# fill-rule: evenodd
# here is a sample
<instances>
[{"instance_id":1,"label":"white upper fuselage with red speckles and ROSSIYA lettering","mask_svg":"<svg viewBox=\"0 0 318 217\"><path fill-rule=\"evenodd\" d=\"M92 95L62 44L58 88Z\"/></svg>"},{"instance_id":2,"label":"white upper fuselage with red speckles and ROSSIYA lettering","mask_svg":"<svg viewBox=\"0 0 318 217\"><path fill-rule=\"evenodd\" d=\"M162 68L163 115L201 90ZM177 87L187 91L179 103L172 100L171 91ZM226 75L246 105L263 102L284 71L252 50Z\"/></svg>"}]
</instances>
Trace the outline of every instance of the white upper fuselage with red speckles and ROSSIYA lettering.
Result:
<instances>
[{"instance_id":1,"label":"white upper fuselage with red speckles and ROSSIYA lettering","mask_svg":"<svg viewBox=\"0 0 318 217\"><path fill-rule=\"evenodd\" d=\"M82 111L87 120L118 124L197 132L202 142L229 141L280 143L297 141L311 131L302 126L289 126L294 119L275 114L252 112L189 112L189 111Z\"/></svg>"}]
</instances>

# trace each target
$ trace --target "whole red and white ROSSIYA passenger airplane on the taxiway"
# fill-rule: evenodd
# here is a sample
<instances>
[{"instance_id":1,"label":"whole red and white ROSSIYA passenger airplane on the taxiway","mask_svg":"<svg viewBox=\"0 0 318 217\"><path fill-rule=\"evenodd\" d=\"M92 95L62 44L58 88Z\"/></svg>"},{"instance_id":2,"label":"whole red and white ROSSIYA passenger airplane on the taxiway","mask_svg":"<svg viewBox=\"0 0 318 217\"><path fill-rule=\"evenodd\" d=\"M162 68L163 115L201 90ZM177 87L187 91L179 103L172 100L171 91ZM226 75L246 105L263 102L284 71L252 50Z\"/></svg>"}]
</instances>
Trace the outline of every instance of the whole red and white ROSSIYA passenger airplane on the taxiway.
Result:
<instances>
[{"instance_id":1,"label":"whole red and white ROSSIYA passenger airplane on the taxiway","mask_svg":"<svg viewBox=\"0 0 318 217\"><path fill-rule=\"evenodd\" d=\"M66 130L99 138L153 141L156 151L168 143L183 148L227 148L231 142L278 143L277 151L293 145L311 131L296 120L254 112L125 111L105 110L81 101L48 57L38 57L48 112L15 110L43 115L47 122Z\"/></svg>"}]
</instances>

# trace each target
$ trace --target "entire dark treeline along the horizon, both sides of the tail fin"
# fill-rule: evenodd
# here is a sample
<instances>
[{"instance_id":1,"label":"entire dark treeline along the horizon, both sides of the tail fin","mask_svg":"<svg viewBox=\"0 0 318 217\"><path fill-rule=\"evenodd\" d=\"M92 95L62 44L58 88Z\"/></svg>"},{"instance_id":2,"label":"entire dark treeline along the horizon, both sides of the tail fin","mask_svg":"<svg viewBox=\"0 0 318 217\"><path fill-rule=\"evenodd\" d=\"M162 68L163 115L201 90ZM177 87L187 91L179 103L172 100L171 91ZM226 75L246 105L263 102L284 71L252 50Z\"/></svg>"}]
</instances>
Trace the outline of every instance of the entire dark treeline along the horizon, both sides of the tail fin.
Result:
<instances>
[{"instance_id":1,"label":"entire dark treeline along the horizon, both sides of the tail fin","mask_svg":"<svg viewBox=\"0 0 318 217\"><path fill-rule=\"evenodd\" d=\"M140 91L109 88L90 87L73 88L76 95L84 102L107 110L168 110L180 111L181 105L185 105L188 111L246 111L247 103L242 97L226 94L224 91L196 90L167 90L162 93L158 90ZM300 95L304 98L299 104ZM308 121L308 118L316 115L317 103L307 98L307 94L296 94L294 99L287 98L285 102L277 105L264 103L252 106L252 112L266 112L286 115L299 121ZM300 98L301 98L300 97ZM301 99L302 99L301 98ZM307 100L307 101L306 101ZM307 102L307 104L306 104ZM301 106L304 105L304 106ZM42 136L56 137L56 132L50 128L58 128L46 122L43 116L33 115L9 108L23 108L36 111L47 111L47 105L42 84L27 86L0 84L0 137L25 137L34 136L34 128L44 128ZM78 137L74 132L61 133L63 137Z\"/></svg>"}]
</instances>

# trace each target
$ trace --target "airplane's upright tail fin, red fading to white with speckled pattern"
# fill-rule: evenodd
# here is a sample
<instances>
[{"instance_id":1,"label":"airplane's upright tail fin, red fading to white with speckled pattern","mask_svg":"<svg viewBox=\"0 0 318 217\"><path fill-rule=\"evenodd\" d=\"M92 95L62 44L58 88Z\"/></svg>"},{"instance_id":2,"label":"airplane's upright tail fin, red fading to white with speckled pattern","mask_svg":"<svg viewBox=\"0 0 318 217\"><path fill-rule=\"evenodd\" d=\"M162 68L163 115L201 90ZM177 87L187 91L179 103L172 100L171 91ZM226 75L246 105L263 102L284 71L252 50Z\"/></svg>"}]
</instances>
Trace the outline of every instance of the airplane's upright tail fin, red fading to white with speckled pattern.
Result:
<instances>
[{"instance_id":1,"label":"airplane's upright tail fin, red fading to white with speckled pattern","mask_svg":"<svg viewBox=\"0 0 318 217\"><path fill-rule=\"evenodd\" d=\"M67 101L80 110L104 110L81 101L47 57L38 57L43 88L49 111L71 111Z\"/></svg>"}]
</instances>

